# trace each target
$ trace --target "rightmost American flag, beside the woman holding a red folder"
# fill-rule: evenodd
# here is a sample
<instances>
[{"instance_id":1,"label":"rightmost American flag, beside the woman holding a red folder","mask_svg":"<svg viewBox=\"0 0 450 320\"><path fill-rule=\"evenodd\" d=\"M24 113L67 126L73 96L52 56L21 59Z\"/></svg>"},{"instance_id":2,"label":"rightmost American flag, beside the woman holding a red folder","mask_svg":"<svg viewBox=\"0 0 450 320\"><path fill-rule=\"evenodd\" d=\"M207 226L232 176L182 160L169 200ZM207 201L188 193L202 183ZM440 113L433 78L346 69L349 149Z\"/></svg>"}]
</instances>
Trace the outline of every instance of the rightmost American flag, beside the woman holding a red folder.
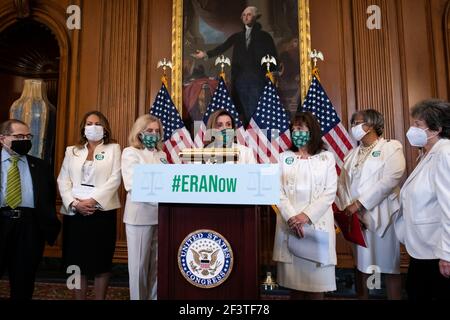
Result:
<instances>
[{"instance_id":1,"label":"rightmost American flag, beside the woman holding a red folder","mask_svg":"<svg viewBox=\"0 0 450 320\"><path fill-rule=\"evenodd\" d=\"M316 116L322 129L322 139L328 145L328 150L335 154L336 169L340 174L344 157L355 144L316 76L313 76L302 111L310 111Z\"/></svg>"}]
</instances>

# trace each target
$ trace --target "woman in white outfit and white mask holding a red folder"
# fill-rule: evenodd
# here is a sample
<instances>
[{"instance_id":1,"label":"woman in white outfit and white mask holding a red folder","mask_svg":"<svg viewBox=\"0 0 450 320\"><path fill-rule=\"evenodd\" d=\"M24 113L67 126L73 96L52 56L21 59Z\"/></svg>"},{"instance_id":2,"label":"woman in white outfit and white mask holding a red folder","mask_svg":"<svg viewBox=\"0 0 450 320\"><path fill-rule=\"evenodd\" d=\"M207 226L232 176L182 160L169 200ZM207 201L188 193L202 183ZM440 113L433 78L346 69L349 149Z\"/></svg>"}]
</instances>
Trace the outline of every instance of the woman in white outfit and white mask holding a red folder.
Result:
<instances>
[{"instance_id":1,"label":"woman in white outfit and white mask holding a red folder","mask_svg":"<svg viewBox=\"0 0 450 320\"><path fill-rule=\"evenodd\" d=\"M351 119L352 135L360 142L344 159L336 204L348 215L357 214L367 248L354 245L357 293L369 298L367 280L373 272L385 276L388 299L401 299L400 242L393 217L400 207L399 184L405 173L400 142L382 138L384 118L376 110L362 110Z\"/></svg>"}]
</instances>

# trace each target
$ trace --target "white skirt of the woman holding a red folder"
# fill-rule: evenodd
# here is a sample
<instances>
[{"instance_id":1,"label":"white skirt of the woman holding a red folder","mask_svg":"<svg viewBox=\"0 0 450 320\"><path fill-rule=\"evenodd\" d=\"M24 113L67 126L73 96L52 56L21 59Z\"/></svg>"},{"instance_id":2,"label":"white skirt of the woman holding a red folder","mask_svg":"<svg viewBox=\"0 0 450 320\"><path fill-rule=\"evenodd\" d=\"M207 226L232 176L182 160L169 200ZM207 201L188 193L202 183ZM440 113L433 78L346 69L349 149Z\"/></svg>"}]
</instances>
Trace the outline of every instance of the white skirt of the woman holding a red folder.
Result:
<instances>
[{"instance_id":1,"label":"white skirt of the woman holding a red folder","mask_svg":"<svg viewBox=\"0 0 450 320\"><path fill-rule=\"evenodd\" d=\"M388 227L383 238L367 229L364 230L364 236L367 248L355 245L353 249L358 270L366 274L372 274L374 271L399 274L400 242L395 235L393 224Z\"/></svg>"}]
</instances>

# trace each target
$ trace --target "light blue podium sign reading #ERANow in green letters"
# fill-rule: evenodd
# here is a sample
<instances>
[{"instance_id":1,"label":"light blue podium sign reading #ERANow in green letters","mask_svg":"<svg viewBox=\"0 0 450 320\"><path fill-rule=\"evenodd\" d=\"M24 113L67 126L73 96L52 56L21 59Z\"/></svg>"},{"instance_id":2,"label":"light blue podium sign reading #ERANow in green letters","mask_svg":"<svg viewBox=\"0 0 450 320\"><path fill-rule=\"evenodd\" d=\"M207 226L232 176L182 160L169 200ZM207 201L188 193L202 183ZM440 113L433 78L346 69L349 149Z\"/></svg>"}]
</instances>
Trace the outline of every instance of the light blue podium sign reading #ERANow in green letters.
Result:
<instances>
[{"instance_id":1,"label":"light blue podium sign reading #ERANow in green letters","mask_svg":"<svg viewBox=\"0 0 450 320\"><path fill-rule=\"evenodd\" d=\"M277 164L136 165L135 202L259 204L280 201Z\"/></svg>"}]
</instances>

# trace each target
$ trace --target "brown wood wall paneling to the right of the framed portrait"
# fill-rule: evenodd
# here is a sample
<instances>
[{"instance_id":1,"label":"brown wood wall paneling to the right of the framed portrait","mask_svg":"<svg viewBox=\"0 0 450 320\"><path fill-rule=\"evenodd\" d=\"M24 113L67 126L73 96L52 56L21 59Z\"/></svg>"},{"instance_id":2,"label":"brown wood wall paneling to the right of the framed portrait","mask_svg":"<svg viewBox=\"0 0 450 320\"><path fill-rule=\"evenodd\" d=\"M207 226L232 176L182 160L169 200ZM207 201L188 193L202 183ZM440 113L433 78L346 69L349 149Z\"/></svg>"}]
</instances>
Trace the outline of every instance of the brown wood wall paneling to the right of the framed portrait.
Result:
<instances>
[{"instance_id":1,"label":"brown wood wall paneling to the right of the framed portrait","mask_svg":"<svg viewBox=\"0 0 450 320\"><path fill-rule=\"evenodd\" d=\"M310 1L312 47L326 59L319 65L321 81L344 124L355 110L373 107L382 112L386 136L405 147L408 173L416 157L405 139L409 108L426 98L449 98L449 75L442 72L448 70L443 41L448 2ZM366 28L366 10L373 4L381 8L381 30ZM350 266L351 250L340 237L337 251L339 264Z\"/></svg>"}]
</instances>

